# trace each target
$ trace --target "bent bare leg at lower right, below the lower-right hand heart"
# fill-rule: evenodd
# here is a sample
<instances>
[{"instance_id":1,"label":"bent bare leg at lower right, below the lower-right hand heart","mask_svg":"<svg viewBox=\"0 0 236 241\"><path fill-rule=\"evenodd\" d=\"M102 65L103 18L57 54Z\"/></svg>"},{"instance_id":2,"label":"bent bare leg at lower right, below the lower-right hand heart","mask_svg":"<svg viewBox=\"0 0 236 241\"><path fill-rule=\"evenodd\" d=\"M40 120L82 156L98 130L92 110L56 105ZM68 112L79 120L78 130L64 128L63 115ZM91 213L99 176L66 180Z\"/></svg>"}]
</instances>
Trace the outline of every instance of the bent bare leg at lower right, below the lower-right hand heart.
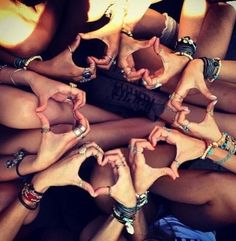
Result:
<instances>
[{"instance_id":1,"label":"bent bare leg at lower right, below the lower-right hand heart","mask_svg":"<svg viewBox=\"0 0 236 241\"><path fill-rule=\"evenodd\" d=\"M183 223L211 230L236 222L236 176L200 170L180 172L175 181L163 177L152 191L173 202L173 214Z\"/></svg>"}]
</instances>

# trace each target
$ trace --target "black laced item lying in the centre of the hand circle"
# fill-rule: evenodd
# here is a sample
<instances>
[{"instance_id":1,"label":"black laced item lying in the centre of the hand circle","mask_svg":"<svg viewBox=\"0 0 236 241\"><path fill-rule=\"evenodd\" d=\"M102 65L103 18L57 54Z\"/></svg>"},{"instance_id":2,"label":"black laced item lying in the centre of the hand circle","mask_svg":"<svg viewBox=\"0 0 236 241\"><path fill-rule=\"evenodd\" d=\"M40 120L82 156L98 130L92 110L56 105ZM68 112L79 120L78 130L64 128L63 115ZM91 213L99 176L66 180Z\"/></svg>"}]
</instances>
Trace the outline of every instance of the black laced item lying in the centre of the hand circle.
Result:
<instances>
[{"instance_id":1,"label":"black laced item lying in the centre of the hand circle","mask_svg":"<svg viewBox=\"0 0 236 241\"><path fill-rule=\"evenodd\" d=\"M87 93L87 101L123 117L159 119L168 101L168 95L159 90L147 90L125 80L118 67L99 71L97 78L79 88Z\"/></svg>"}]
</instances>

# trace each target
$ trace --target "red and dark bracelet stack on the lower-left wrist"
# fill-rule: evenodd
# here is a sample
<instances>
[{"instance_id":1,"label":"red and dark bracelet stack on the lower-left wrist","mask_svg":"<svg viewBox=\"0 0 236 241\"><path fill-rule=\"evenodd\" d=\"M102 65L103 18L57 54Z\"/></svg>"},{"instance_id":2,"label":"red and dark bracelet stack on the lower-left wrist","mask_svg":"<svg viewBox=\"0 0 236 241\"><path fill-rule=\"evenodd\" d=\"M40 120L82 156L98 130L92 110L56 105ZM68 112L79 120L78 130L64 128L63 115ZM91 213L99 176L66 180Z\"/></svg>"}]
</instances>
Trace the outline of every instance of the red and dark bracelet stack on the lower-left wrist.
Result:
<instances>
[{"instance_id":1,"label":"red and dark bracelet stack on the lower-left wrist","mask_svg":"<svg viewBox=\"0 0 236 241\"><path fill-rule=\"evenodd\" d=\"M43 193L35 191L33 185L30 183L25 183L18 195L21 204L29 210L35 210L42 197Z\"/></svg>"}]
</instances>

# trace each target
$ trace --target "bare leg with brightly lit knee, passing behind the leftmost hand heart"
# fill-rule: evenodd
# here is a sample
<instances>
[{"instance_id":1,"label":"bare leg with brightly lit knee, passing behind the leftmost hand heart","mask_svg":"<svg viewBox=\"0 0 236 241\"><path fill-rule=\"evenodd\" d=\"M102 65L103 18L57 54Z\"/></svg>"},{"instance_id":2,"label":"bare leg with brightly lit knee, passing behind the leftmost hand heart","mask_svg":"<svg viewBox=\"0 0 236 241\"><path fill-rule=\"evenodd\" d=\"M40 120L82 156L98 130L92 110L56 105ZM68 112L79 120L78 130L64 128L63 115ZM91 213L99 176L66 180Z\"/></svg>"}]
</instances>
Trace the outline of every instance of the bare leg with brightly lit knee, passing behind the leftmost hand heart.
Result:
<instances>
[{"instance_id":1,"label":"bare leg with brightly lit knee, passing behind the leftmost hand heart","mask_svg":"<svg viewBox=\"0 0 236 241\"><path fill-rule=\"evenodd\" d=\"M0 86L0 91L0 123L2 125L18 129L41 127L35 112L38 98L34 94L8 86ZM91 105L85 105L80 111L91 123L121 119L118 115ZM49 100L44 114L51 125L73 123L74 119L70 104L54 100Z\"/></svg>"}]
</instances>

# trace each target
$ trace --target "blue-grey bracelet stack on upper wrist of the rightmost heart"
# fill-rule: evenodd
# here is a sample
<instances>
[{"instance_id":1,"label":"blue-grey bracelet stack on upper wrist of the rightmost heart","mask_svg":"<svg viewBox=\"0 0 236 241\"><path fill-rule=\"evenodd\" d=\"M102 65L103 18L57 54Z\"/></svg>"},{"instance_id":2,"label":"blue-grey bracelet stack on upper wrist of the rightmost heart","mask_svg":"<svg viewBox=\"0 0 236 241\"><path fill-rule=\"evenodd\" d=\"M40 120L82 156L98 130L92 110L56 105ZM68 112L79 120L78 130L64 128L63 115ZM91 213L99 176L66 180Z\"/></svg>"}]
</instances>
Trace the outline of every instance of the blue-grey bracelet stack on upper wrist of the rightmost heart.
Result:
<instances>
[{"instance_id":1,"label":"blue-grey bracelet stack on upper wrist of the rightmost heart","mask_svg":"<svg viewBox=\"0 0 236 241\"><path fill-rule=\"evenodd\" d=\"M203 76L210 83L214 82L220 74L221 60L220 58L200 58L204 63Z\"/></svg>"}]
</instances>

